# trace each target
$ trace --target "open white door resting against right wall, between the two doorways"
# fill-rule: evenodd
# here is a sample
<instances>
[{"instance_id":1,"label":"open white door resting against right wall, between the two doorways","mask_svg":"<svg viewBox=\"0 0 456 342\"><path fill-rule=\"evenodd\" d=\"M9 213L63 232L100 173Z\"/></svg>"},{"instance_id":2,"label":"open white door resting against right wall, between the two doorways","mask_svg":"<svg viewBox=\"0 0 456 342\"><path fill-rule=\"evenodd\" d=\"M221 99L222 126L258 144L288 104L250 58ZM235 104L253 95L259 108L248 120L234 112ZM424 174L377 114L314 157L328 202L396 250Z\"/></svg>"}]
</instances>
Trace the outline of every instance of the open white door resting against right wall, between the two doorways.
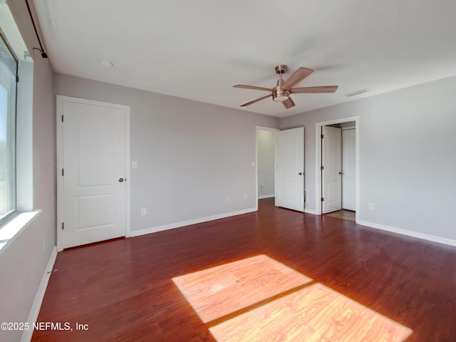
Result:
<instances>
[{"instance_id":1,"label":"open white door resting against right wall, between the two doorways","mask_svg":"<svg viewBox=\"0 0 456 342\"><path fill-rule=\"evenodd\" d=\"M275 204L304 212L304 128L276 132Z\"/></svg>"}]
</instances>

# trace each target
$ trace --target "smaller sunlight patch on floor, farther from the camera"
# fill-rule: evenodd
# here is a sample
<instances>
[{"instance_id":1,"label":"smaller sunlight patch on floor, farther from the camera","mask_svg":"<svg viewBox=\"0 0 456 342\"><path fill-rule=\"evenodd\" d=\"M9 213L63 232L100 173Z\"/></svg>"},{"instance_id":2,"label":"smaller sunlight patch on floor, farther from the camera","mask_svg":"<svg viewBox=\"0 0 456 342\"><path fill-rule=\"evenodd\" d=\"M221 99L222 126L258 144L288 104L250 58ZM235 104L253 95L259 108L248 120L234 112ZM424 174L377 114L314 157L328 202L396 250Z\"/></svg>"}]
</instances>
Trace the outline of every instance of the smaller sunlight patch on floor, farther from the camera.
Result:
<instances>
[{"instance_id":1,"label":"smaller sunlight patch on floor, farther from the camera","mask_svg":"<svg viewBox=\"0 0 456 342\"><path fill-rule=\"evenodd\" d=\"M261 254L177 276L172 281L199 318L207 323L312 279Z\"/></svg>"}]
</instances>

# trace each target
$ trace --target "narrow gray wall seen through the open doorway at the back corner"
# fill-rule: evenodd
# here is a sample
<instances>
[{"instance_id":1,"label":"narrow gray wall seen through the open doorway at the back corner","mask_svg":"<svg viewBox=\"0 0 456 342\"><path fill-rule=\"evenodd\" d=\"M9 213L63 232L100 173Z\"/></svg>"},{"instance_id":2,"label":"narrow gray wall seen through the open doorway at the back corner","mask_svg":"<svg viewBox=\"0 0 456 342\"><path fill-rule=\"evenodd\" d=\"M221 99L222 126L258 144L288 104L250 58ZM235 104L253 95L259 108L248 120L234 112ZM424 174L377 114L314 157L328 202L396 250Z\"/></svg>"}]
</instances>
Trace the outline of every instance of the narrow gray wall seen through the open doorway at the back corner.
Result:
<instances>
[{"instance_id":1,"label":"narrow gray wall seen through the open doorway at the back corner","mask_svg":"<svg viewBox=\"0 0 456 342\"><path fill-rule=\"evenodd\" d=\"M257 131L258 196L274 195L275 146L274 132Z\"/></svg>"}]
</instances>

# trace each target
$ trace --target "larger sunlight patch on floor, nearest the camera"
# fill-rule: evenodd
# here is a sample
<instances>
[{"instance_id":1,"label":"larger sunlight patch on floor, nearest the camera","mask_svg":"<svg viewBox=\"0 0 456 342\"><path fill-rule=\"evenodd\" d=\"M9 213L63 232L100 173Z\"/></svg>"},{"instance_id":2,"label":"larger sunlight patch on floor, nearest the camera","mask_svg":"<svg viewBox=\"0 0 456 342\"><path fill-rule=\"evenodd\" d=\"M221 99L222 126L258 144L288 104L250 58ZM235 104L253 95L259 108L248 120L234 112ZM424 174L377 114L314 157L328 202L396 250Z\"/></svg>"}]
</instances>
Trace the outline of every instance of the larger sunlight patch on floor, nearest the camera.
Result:
<instances>
[{"instance_id":1,"label":"larger sunlight patch on floor, nearest the camera","mask_svg":"<svg viewBox=\"0 0 456 342\"><path fill-rule=\"evenodd\" d=\"M219 342L404 341L410 328L312 284L209 328Z\"/></svg>"}]
</instances>

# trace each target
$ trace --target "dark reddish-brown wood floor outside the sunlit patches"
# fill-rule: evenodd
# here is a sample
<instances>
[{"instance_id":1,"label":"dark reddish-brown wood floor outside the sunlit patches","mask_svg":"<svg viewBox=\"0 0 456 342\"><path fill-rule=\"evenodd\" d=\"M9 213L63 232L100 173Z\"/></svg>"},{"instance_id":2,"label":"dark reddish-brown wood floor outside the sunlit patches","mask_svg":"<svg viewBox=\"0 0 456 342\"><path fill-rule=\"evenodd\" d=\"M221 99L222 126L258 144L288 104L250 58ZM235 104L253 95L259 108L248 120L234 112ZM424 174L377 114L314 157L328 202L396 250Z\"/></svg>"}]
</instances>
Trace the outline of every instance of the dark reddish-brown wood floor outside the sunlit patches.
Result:
<instances>
[{"instance_id":1,"label":"dark reddish-brown wood floor outside the sunlit patches","mask_svg":"<svg viewBox=\"0 0 456 342\"><path fill-rule=\"evenodd\" d=\"M259 203L251 214L59 253L38 322L73 331L35 331L32 341L215 341L172 278L258 254L410 328L405 341L456 341L455 247Z\"/></svg>"}]
</instances>

